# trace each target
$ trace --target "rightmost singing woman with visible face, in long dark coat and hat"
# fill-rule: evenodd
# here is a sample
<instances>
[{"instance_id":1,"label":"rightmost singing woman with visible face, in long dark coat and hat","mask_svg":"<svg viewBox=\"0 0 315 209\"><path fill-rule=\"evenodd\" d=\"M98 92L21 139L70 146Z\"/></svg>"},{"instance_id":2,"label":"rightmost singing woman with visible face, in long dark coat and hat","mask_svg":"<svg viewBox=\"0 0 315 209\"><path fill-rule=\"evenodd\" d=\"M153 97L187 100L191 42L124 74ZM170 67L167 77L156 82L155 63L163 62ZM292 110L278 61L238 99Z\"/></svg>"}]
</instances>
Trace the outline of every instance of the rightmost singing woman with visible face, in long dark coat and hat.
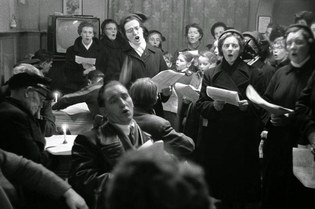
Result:
<instances>
[{"instance_id":1,"label":"rightmost singing woman with visible face, in long dark coat and hat","mask_svg":"<svg viewBox=\"0 0 315 209\"><path fill-rule=\"evenodd\" d=\"M290 63L276 71L263 97L294 110L315 68L315 40L308 26L295 24L286 30L284 41ZM305 187L293 174L292 148L309 143L302 137L296 117L295 113L266 114L262 208L312 208L307 204L314 203L314 196L306 197Z\"/></svg>"}]
</instances>

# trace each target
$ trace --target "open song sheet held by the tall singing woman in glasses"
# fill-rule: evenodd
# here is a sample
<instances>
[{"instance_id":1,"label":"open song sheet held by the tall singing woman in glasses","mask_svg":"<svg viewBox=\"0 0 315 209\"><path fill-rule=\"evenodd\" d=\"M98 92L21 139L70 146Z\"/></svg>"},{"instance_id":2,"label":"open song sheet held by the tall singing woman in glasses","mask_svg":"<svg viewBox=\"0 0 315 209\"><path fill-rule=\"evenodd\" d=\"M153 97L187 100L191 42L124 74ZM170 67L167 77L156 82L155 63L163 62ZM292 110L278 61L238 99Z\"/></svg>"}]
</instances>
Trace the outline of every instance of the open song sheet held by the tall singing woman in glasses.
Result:
<instances>
[{"instance_id":1,"label":"open song sheet held by the tall singing woman in glasses","mask_svg":"<svg viewBox=\"0 0 315 209\"><path fill-rule=\"evenodd\" d=\"M185 73L177 73L173 70L164 70L162 72L159 72L159 74L157 74L156 76L154 76L152 80L157 83L158 91L161 92L162 89L173 85L184 75Z\"/></svg>"}]
</instances>

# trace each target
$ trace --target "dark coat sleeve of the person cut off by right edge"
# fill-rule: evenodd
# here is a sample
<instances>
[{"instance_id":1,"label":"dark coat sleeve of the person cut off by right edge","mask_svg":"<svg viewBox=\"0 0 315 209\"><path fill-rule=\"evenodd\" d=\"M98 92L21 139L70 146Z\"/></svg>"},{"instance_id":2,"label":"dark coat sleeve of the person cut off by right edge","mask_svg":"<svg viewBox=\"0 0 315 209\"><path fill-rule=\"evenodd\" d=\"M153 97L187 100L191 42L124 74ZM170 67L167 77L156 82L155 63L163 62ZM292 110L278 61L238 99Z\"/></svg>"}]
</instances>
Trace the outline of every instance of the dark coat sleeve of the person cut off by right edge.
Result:
<instances>
[{"instance_id":1,"label":"dark coat sleeve of the person cut off by right edge","mask_svg":"<svg viewBox=\"0 0 315 209\"><path fill-rule=\"evenodd\" d=\"M311 107L314 85L315 71L308 80L307 85L305 89L303 89L295 106L296 125L300 128L302 135L306 138L308 137L308 133L315 132L315 118Z\"/></svg>"}]
</instances>

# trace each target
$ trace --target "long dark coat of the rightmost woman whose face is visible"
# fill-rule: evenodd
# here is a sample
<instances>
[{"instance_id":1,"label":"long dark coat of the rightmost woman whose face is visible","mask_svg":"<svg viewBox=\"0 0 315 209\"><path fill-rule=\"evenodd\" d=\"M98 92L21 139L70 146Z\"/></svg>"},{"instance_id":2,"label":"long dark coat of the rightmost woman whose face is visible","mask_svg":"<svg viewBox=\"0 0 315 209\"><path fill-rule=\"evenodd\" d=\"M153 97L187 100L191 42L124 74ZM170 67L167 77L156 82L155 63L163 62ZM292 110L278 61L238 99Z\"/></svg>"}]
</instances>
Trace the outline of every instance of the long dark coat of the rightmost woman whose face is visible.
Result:
<instances>
[{"instance_id":1,"label":"long dark coat of the rightmost woman whose face is visible","mask_svg":"<svg viewBox=\"0 0 315 209\"><path fill-rule=\"evenodd\" d=\"M313 60L309 59L301 68L295 68L289 63L278 69L266 89L264 98L273 104L295 109L295 103L314 67ZM286 126L274 126L268 117L265 118L265 121L268 121L268 137L263 146L263 208L287 208L286 206L290 206L296 198L293 194L297 194L301 189L292 172L292 147L304 142L296 127L295 115L289 114L289 119L290 122Z\"/></svg>"}]
</instances>

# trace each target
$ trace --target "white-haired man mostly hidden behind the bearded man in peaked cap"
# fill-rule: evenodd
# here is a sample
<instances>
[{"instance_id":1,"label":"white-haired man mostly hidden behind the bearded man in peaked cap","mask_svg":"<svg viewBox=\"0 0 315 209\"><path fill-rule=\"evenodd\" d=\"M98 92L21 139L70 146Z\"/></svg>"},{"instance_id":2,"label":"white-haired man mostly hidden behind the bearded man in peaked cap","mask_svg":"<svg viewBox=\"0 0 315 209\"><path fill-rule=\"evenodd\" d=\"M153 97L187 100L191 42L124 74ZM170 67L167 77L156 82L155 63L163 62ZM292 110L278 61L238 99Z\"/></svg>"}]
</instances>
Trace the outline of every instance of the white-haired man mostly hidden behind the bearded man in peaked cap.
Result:
<instances>
[{"instance_id":1,"label":"white-haired man mostly hidden behind the bearded man in peaked cap","mask_svg":"<svg viewBox=\"0 0 315 209\"><path fill-rule=\"evenodd\" d=\"M33 59L36 60L36 59ZM18 73L29 73L29 74L37 74L40 76L43 76L43 74L33 65L26 64L26 63L20 63L16 64L16 66L12 70L12 74L18 74ZM5 100L6 96L10 96L10 89L8 85L0 86L0 103ZM45 100L43 103L43 107L40 108L40 112L38 115L38 119L45 120L45 128L43 129L43 135L44 136L52 136L56 133L56 118L53 115L52 109L51 109L51 100ZM36 115L37 116L37 115Z\"/></svg>"}]
</instances>

